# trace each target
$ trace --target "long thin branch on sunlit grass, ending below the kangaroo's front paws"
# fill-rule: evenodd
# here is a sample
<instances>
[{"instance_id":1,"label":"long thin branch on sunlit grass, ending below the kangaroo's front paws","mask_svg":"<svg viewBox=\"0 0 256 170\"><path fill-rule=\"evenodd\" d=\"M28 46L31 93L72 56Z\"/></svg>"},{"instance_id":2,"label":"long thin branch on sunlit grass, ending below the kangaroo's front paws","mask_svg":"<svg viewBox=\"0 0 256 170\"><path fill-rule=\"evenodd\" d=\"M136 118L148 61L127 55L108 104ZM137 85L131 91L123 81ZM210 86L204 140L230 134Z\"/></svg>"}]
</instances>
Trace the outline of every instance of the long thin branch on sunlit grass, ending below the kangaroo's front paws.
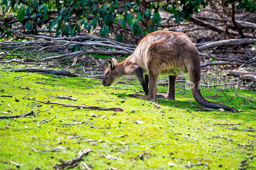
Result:
<instances>
[{"instance_id":1,"label":"long thin branch on sunlit grass, ending below the kangaroo's front paws","mask_svg":"<svg viewBox=\"0 0 256 170\"><path fill-rule=\"evenodd\" d=\"M33 100L39 103L44 103L44 104L58 104L58 105L62 105L65 107L76 107L76 108L87 108L87 109L92 109L92 110L114 110L114 111L124 111L122 108L119 107L97 107L97 106L90 106L90 105L76 105L76 104L65 104L65 103L59 103L59 102L42 102L42 101L38 101L36 99L32 99L32 98L28 98L29 100Z\"/></svg>"}]
</instances>

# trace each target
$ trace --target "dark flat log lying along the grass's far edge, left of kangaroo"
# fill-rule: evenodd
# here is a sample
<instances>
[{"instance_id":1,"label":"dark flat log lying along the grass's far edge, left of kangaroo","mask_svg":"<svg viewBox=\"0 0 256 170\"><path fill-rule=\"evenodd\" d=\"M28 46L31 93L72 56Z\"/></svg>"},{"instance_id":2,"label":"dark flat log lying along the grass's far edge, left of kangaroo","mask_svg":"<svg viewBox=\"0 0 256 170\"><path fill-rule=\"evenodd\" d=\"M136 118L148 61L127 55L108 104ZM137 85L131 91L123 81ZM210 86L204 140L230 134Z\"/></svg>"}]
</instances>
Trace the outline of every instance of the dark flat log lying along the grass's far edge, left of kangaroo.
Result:
<instances>
[{"instance_id":1,"label":"dark flat log lying along the grass's far edge, left of kangaroo","mask_svg":"<svg viewBox=\"0 0 256 170\"><path fill-rule=\"evenodd\" d=\"M10 70L10 72L30 72L30 73L35 73L35 72L40 72L40 73L45 73L45 74L55 74L55 75L64 75L64 76L69 76L69 77L77 77L75 73L71 73L70 71L67 70L56 70L56 69L39 69L39 68L29 68L29 69L23 69L19 68L16 70Z\"/></svg>"}]
</instances>

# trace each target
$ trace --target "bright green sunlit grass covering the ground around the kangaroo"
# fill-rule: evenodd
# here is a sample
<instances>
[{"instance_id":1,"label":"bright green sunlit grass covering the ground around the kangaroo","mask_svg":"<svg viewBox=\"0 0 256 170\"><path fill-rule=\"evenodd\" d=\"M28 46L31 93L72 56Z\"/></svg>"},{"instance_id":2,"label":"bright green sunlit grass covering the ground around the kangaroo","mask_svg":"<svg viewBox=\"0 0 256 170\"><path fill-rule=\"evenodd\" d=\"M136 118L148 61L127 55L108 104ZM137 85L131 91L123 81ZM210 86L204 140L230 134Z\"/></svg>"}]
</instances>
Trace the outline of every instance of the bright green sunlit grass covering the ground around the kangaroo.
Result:
<instances>
[{"instance_id":1,"label":"bright green sunlit grass covering the ground around the kangaroo","mask_svg":"<svg viewBox=\"0 0 256 170\"><path fill-rule=\"evenodd\" d=\"M7 66L3 65L2 67ZM11 78L24 74L29 75L18 79ZM22 164L19 169L34 169L35 167L53 169L52 166L60 163L59 160L74 158L83 148L92 148L92 152L83 157L83 162L94 170L111 169L111 167L125 170L185 169L184 166L198 162L207 163L205 168L210 169L239 169L238 163L246 158L248 160L243 167L256 168L255 158L249 158L256 156L256 138L249 136L256 135L256 111L249 108L255 107L255 102L251 102L254 105L250 105L248 102L231 104L241 103L241 98L234 94L255 101L255 94L248 90L225 89L224 94L226 96L222 92L219 93L220 99L217 100L224 101L227 97L233 98L228 103L221 103L226 103L237 110L243 109L239 114L231 114L227 111L204 111L193 108L191 103L196 102L191 91L183 88L178 89L186 91L186 94L176 90L175 101L158 100L161 109L156 109L149 101L128 97L128 94L134 94L138 89L142 90L141 86L118 84L111 87L122 87L123 89L111 89L104 88L100 81L89 78L52 78L36 73L1 71L0 76L0 95L13 95L11 98L0 97L1 116L7 115L2 111L12 111L8 114L11 115L27 113L30 110L35 112L47 110L20 119L0 120L0 169L17 169L16 165L9 160ZM36 81L70 86L38 84ZM92 87L79 86L75 82ZM18 88L19 86L21 88L28 86L31 90ZM158 86L158 89L167 91L166 87ZM217 90L214 88L201 90L201 92L203 96L211 96L216 94ZM78 100L69 101L48 97L60 95L72 95ZM118 98L117 95L121 95L122 99ZM15 98L19 99L19 102L15 102ZM28 98L35 98L39 101L50 100L60 103L121 107L124 111L72 110L73 108L60 105L53 105L52 108L49 108L49 104L43 103L41 103L42 106L36 107L32 105L40 103L28 100ZM217 101L216 99L207 99L213 102ZM125 100L125 102L120 103L121 100ZM89 113L95 113L99 117L90 117ZM36 125L42 119L51 119L55 116L54 114L56 118L52 121L41 123L41 127ZM142 124L134 123L133 121L136 120L141 120ZM65 125L62 121L74 125ZM82 123L79 124L79 122ZM237 124L239 122L241 124ZM104 128L108 126L109 128ZM227 129L234 127L251 129L252 131ZM118 135L127 136L117 137ZM219 135L231 138L232 141L216 138ZM99 140L103 141L100 142ZM56 149L60 145L65 149ZM33 151L32 148L41 151L58 150L60 152L41 153ZM151 154L145 154L143 159L138 157L128 160L142 152L149 151ZM123 160L107 159L102 156L108 154ZM175 163L177 166L168 166L168 162ZM188 169L200 169L202 167L199 165ZM74 169L82 169L82 166L76 166Z\"/></svg>"}]
</instances>

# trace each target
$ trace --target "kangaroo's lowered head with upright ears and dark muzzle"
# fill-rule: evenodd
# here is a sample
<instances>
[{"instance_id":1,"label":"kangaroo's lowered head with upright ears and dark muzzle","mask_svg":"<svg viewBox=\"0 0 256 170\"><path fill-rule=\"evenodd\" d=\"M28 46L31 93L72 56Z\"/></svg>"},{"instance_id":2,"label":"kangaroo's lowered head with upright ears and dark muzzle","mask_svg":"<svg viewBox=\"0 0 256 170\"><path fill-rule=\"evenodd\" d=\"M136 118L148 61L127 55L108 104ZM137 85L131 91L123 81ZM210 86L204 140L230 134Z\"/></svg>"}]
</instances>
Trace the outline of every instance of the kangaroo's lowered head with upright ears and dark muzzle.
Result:
<instances>
[{"instance_id":1,"label":"kangaroo's lowered head with upright ears and dark muzzle","mask_svg":"<svg viewBox=\"0 0 256 170\"><path fill-rule=\"evenodd\" d=\"M103 86L110 86L113 84L120 76L118 70L116 69L117 60L115 57L108 58L108 68L105 71L105 77L102 80Z\"/></svg>"}]
</instances>

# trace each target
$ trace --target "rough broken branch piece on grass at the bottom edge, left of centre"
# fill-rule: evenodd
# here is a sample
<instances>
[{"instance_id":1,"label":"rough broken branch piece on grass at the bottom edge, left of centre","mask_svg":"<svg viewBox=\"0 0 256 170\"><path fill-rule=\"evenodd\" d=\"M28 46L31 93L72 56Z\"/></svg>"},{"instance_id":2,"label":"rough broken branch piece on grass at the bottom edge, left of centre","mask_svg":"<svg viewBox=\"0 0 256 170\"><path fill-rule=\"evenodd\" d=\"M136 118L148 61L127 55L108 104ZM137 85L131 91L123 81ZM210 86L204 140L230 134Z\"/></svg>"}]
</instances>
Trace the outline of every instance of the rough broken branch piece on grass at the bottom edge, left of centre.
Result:
<instances>
[{"instance_id":1,"label":"rough broken branch piece on grass at the bottom edge, left of centre","mask_svg":"<svg viewBox=\"0 0 256 170\"><path fill-rule=\"evenodd\" d=\"M84 156L84 154L87 154L88 152L91 152L91 151L92 151L91 148L80 150L76 158L69 159L65 162L62 162L61 164L56 164L53 166L53 168L55 168L56 170L60 170L62 168L64 169L73 168L78 165L78 162L80 160L82 160L82 157Z\"/></svg>"}]
</instances>

